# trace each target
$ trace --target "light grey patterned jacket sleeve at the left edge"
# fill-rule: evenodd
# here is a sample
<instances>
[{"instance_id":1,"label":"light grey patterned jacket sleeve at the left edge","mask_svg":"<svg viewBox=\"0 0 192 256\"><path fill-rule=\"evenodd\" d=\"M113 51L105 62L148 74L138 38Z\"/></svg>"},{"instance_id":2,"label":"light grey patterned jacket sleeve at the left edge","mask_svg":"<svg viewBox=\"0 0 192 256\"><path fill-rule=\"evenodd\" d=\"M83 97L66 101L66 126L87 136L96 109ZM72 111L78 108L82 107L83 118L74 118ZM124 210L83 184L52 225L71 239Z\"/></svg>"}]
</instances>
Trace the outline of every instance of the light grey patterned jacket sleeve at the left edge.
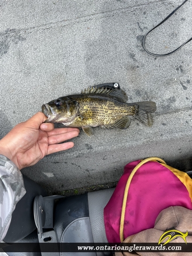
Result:
<instances>
[{"instance_id":1,"label":"light grey patterned jacket sleeve at the left edge","mask_svg":"<svg viewBox=\"0 0 192 256\"><path fill-rule=\"evenodd\" d=\"M4 155L0 155L0 182L0 241L2 241L9 229L15 205L26 193L20 170Z\"/></svg>"}]
</instances>

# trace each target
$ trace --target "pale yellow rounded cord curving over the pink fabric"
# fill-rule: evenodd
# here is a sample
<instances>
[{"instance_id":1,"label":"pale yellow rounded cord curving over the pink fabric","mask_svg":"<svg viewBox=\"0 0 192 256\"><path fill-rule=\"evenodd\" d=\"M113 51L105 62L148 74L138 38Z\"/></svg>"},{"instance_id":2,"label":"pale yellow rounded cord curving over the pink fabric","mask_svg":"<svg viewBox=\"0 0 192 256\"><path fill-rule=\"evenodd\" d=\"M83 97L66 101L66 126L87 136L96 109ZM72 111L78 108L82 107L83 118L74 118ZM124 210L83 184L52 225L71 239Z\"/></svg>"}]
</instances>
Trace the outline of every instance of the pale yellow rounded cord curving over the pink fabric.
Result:
<instances>
[{"instance_id":1,"label":"pale yellow rounded cord curving over the pink fabric","mask_svg":"<svg viewBox=\"0 0 192 256\"><path fill-rule=\"evenodd\" d=\"M126 210L127 195L128 195L128 192L129 192L129 187L130 187L131 180L132 180L135 172L137 172L137 170L143 164L145 164L149 161L158 161L158 162L161 162L161 163L166 165L165 161L163 159L159 158L159 157L149 157L149 158L146 158L145 160L142 160L137 166L134 167L133 171L131 172L129 179L126 182L124 197L123 197L121 220L120 220L120 230L119 230L119 235L120 235L121 242L124 241L123 230L124 230L125 210Z\"/></svg>"}]
</instances>

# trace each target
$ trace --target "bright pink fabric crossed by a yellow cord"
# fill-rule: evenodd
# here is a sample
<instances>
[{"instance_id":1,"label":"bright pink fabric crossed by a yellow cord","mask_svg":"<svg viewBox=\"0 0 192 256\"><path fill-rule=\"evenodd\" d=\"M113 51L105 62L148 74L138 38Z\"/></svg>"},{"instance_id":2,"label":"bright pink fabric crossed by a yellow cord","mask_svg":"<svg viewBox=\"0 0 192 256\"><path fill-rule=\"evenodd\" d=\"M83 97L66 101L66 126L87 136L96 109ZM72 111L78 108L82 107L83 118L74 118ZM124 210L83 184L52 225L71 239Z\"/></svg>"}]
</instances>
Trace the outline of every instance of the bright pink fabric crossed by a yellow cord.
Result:
<instances>
[{"instance_id":1,"label":"bright pink fabric crossed by a yellow cord","mask_svg":"<svg viewBox=\"0 0 192 256\"><path fill-rule=\"evenodd\" d=\"M134 167L127 164L114 194L104 209L104 222L109 243L120 243L119 225L125 185ZM143 164L134 174L127 197L124 238L153 228L157 215L169 206L192 210L189 193L183 183L165 166L157 162Z\"/></svg>"}]
</instances>

